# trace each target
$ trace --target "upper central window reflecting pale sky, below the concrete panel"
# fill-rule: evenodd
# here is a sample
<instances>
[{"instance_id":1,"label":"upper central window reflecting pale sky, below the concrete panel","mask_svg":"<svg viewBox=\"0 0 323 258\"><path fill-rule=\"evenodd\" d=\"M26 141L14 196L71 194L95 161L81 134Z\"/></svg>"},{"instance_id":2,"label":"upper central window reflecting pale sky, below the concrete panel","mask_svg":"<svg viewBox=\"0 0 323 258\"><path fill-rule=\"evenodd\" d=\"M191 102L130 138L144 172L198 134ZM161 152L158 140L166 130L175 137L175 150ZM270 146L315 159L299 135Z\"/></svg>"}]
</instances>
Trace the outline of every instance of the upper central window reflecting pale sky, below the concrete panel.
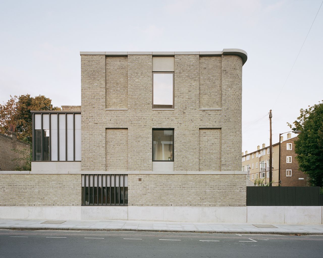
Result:
<instances>
[{"instance_id":1,"label":"upper central window reflecting pale sky, below the concrete panel","mask_svg":"<svg viewBox=\"0 0 323 258\"><path fill-rule=\"evenodd\" d=\"M174 73L152 73L152 108L174 108Z\"/></svg>"}]
</instances>

